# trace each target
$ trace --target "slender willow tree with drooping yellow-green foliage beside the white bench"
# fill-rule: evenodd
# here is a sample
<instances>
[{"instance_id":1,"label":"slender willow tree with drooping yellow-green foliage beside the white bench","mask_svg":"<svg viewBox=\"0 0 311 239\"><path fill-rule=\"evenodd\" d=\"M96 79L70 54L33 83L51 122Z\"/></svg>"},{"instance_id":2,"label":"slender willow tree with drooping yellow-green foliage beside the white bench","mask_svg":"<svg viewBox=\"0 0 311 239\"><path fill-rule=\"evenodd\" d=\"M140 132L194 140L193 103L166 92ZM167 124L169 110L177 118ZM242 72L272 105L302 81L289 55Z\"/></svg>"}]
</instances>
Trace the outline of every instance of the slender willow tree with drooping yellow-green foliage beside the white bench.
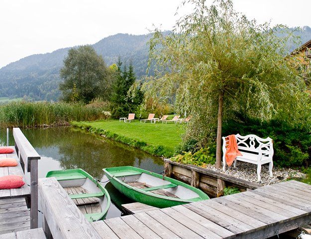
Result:
<instances>
[{"instance_id":1,"label":"slender willow tree with drooping yellow-green foliage beside the white bench","mask_svg":"<svg viewBox=\"0 0 311 239\"><path fill-rule=\"evenodd\" d=\"M186 139L204 146L216 136L220 168L223 120L234 111L290 123L306 120L300 115L306 85L296 60L284 58L287 40L275 34L282 26L248 20L234 11L231 0L211 6L204 0L187 2L195 10L177 21L171 34L155 30L149 65L156 65L156 74L143 89L153 97L176 97L177 111L192 116Z\"/></svg>"}]
</instances>

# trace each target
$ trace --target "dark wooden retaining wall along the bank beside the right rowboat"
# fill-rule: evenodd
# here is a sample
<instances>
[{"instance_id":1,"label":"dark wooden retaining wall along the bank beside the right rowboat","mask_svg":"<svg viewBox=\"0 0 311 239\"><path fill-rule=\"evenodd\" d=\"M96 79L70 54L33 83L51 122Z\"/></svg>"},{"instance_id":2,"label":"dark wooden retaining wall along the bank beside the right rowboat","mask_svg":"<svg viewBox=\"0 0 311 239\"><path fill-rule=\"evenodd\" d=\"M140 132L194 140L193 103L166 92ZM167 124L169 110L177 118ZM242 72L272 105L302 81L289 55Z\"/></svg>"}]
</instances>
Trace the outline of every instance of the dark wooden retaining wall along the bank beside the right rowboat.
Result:
<instances>
[{"instance_id":1,"label":"dark wooden retaining wall along the bank beside the right rowboat","mask_svg":"<svg viewBox=\"0 0 311 239\"><path fill-rule=\"evenodd\" d=\"M241 192L261 187L259 184L237 179L195 165L185 165L164 159L165 176L175 178L201 189L212 198L223 196L225 187L237 187Z\"/></svg>"}]
</instances>

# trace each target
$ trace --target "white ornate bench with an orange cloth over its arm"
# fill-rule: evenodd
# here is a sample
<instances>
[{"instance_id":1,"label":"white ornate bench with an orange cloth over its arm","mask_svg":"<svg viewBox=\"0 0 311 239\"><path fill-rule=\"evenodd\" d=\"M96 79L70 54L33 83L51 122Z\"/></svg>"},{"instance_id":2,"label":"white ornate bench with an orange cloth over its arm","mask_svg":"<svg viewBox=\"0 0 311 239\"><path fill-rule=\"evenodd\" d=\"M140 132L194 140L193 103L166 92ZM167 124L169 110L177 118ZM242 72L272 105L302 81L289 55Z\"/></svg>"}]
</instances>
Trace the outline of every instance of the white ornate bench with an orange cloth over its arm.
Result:
<instances>
[{"instance_id":1,"label":"white ornate bench with an orange cloth over its arm","mask_svg":"<svg viewBox=\"0 0 311 239\"><path fill-rule=\"evenodd\" d=\"M272 168L273 168L273 140L271 138L260 138L257 135L249 134L246 136L242 136L239 134L235 135L236 143L238 150L241 152L242 156L237 156L234 160L233 167L236 167L236 161L243 161L251 164L257 164L257 179L261 180L260 172L261 165L269 163L269 173L270 177L272 177ZM228 137L222 137L222 162L223 168L225 171L226 167L226 159L225 153L228 146Z\"/></svg>"}]
</instances>

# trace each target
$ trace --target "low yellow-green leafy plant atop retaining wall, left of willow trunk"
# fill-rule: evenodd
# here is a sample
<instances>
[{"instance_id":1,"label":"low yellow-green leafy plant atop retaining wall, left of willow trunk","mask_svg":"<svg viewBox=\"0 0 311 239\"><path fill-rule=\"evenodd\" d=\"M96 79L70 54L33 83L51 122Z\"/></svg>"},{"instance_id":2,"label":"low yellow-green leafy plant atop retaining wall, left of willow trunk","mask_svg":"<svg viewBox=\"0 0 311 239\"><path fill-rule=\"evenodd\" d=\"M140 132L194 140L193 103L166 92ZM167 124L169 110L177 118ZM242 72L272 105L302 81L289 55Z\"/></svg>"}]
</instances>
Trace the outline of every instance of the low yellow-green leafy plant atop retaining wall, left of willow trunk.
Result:
<instances>
[{"instance_id":1,"label":"low yellow-green leafy plant atop retaining wall, left of willow trunk","mask_svg":"<svg viewBox=\"0 0 311 239\"><path fill-rule=\"evenodd\" d=\"M209 148L202 148L196 153L182 152L182 154L172 157L170 160L181 164L193 164L206 167L207 164L215 163L215 155L209 152Z\"/></svg>"}]
</instances>

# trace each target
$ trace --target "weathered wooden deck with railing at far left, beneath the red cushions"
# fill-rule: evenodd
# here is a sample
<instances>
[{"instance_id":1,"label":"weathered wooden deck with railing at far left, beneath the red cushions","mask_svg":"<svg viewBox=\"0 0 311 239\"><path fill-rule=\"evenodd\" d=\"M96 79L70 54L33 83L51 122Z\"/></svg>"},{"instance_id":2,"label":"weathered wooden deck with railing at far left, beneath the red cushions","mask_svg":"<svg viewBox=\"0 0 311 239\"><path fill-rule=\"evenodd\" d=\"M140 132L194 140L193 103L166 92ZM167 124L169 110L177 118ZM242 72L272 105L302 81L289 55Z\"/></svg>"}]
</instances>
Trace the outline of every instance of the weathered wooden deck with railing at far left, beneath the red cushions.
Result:
<instances>
[{"instance_id":1,"label":"weathered wooden deck with railing at far left, beneath the red cushions","mask_svg":"<svg viewBox=\"0 0 311 239\"><path fill-rule=\"evenodd\" d=\"M13 235L19 231L29 231L29 229L38 227L37 183L40 156L19 128L13 129L13 136L15 146L11 146L11 148L14 149L14 152L2 154L0 158L13 158L16 160L17 166L1 167L0 176L20 175L25 184L18 189L0 190L0 235L3 235L0 238L5 238L4 235L7 233ZM25 173L28 172L30 173L30 182L27 183ZM18 235L21 235L18 238L22 238L22 235L26 234ZM10 237L8 236L8 238Z\"/></svg>"}]
</instances>

